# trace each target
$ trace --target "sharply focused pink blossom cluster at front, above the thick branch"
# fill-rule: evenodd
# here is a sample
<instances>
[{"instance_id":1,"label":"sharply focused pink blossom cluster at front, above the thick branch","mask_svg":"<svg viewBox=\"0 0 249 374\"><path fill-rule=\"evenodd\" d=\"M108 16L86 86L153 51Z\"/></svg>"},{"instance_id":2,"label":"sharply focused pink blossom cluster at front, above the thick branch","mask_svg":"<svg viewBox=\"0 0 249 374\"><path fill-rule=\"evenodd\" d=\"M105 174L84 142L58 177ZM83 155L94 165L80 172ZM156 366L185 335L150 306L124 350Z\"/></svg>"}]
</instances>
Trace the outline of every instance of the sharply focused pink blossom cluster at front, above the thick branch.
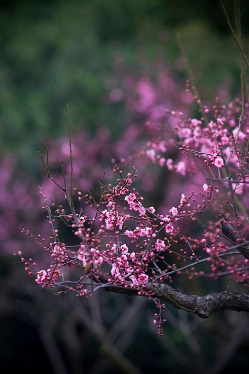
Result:
<instances>
[{"instance_id":1,"label":"sharply focused pink blossom cluster at front, above the thick branch","mask_svg":"<svg viewBox=\"0 0 249 374\"><path fill-rule=\"evenodd\" d=\"M58 240L58 232L53 227L53 220L50 220L55 241L49 245L44 244L44 248L46 251L49 250L53 262L48 270L38 271L36 278L37 283L43 287L61 284L61 281L58 283L58 278L61 277L61 268L65 266L70 269L90 266L91 271L86 271L85 277L81 276L75 284L75 290L80 294L86 279L93 275L96 279L105 277L108 284L137 287L139 292L143 292L150 279L153 281L153 277L149 275L149 264L163 258L162 254L170 251L172 246L172 237L158 239L157 236L163 229L164 233L176 235L172 222L178 221L185 205L187 203L190 205L189 200L182 195L178 208L170 209L171 214L156 215L154 207L144 207L141 203L142 199L132 188L132 179L136 177L136 170L128 173L126 177L123 177L123 172L118 167L115 172L119 173L120 177L114 185L109 183L102 186L101 203L97 204L91 196L83 195L78 191L78 200L83 200L90 205L91 211L96 211L94 216L88 213L73 217L73 214L66 215L63 208L56 210L57 217L66 220L67 225L74 229L75 235L81 242L77 252L71 246L67 247L61 243ZM46 200L44 204L51 214ZM127 208L129 214L126 213ZM139 226L135 225L136 222L139 222ZM146 238L140 241L140 237ZM27 264L31 261L30 259ZM110 271L103 273L103 266L108 266ZM159 274L160 278L163 278L164 273ZM167 272L164 275L167 277ZM62 283L66 286L66 282ZM78 287L78 283L81 287Z\"/></svg>"}]
</instances>

